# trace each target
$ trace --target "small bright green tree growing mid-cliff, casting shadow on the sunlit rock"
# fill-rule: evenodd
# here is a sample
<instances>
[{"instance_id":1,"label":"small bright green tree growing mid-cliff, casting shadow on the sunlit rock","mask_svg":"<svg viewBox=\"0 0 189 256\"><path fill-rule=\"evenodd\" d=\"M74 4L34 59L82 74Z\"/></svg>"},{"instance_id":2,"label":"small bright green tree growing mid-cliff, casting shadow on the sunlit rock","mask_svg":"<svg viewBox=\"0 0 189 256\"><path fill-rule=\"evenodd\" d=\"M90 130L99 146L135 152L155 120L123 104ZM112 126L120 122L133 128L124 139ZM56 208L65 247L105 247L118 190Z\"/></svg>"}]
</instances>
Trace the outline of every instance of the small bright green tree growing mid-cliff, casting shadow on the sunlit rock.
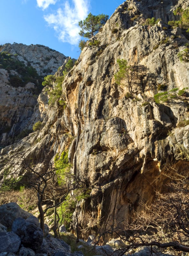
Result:
<instances>
[{"instance_id":1,"label":"small bright green tree growing mid-cliff, casting shadow on the sunlit rock","mask_svg":"<svg viewBox=\"0 0 189 256\"><path fill-rule=\"evenodd\" d=\"M128 85L129 92L132 92L132 80L135 74L134 68L128 66L127 60L117 60L119 65L119 71L114 75L115 82L121 84L122 81L125 81Z\"/></svg>"}]
</instances>

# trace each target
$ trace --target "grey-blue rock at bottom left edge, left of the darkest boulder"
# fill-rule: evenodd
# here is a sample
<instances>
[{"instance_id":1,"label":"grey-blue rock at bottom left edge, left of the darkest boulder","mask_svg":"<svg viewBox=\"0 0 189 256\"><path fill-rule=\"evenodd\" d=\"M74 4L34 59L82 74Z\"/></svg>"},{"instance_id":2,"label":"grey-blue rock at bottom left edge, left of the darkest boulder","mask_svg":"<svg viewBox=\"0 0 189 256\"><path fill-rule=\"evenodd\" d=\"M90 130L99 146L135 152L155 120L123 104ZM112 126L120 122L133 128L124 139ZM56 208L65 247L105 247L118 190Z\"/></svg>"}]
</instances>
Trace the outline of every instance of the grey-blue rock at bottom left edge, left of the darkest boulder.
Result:
<instances>
[{"instance_id":1,"label":"grey-blue rock at bottom left edge, left of the darkest boulder","mask_svg":"<svg viewBox=\"0 0 189 256\"><path fill-rule=\"evenodd\" d=\"M21 244L20 237L13 232L0 233L0 252L17 253Z\"/></svg>"}]
</instances>

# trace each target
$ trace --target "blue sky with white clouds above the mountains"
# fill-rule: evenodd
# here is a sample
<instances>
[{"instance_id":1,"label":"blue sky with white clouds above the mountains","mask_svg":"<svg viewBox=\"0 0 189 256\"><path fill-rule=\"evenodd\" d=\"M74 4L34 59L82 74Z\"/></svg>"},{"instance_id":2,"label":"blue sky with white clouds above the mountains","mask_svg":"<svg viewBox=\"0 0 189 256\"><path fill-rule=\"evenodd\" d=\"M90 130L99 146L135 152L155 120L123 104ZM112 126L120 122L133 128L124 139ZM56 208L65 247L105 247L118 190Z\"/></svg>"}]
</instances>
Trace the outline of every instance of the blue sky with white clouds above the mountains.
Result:
<instances>
[{"instance_id":1,"label":"blue sky with white clouds above the mountains","mask_svg":"<svg viewBox=\"0 0 189 256\"><path fill-rule=\"evenodd\" d=\"M0 44L43 44L78 58L78 21L113 14L123 0L0 0Z\"/></svg>"}]
</instances>

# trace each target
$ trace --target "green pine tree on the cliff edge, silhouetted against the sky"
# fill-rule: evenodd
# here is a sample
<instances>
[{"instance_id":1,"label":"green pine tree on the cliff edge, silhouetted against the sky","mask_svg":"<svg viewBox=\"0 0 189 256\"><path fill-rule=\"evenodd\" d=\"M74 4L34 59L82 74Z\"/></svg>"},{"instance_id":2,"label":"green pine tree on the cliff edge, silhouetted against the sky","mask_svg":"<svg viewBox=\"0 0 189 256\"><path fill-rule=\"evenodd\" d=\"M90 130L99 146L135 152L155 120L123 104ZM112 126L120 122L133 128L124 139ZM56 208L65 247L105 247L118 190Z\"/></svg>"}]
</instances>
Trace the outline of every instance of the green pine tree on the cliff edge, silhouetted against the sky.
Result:
<instances>
[{"instance_id":1,"label":"green pine tree on the cliff edge, silhouetted against the sky","mask_svg":"<svg viewBox=\"0 0 189 256\"><path fill-rule=\"evenodd\" d=\"M90 12L85 20L79 21L79 27L81 28L79 35L86 38L93 37L107 20L108 15L102 13L95 16Z\"/></svg>"}]
</instances>

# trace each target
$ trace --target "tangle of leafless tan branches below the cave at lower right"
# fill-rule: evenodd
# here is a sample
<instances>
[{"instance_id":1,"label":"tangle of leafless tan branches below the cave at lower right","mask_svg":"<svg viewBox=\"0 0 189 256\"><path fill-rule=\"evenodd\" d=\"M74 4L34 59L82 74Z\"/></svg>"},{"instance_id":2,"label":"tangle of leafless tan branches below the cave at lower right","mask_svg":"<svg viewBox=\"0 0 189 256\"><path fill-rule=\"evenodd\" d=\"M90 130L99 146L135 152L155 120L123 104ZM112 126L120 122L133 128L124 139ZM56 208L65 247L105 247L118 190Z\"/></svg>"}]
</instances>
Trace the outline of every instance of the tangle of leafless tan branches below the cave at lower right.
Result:
<instances>
[{"instance_id":1,"label":"tangle of leafless tan branches below the cave at lower right","mask_svg":"<svg viewBox=\"0 0 189 256\"><path fill-rule=\"evenodd\" d=\"M109 225L107 232L100 234L105 239L110 235L119 237L125 245L119 256L141 246L157 246L172 249L174 255L189 252L189 181L187 173L178 173L169 168L165 176L169 180L166 193L156 194L154 203L144 205L144 210L135 212L132 222L120 220L119 225ZM99 239L98 239L99 240Z\"/></svg>"}]
</instances>

